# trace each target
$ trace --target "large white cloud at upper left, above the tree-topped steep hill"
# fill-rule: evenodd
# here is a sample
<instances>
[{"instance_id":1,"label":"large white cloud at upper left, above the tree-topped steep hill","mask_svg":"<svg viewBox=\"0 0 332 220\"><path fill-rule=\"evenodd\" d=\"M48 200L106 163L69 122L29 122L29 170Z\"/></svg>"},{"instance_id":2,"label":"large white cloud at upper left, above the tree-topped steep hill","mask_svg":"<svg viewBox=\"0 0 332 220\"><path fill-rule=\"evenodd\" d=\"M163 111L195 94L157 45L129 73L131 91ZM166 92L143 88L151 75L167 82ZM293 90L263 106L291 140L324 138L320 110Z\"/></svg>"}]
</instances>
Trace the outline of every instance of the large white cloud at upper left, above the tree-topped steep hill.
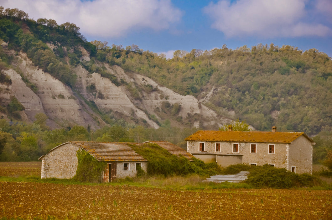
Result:
<instances>
[{"instance_id":1,"label":"large white cloud at upper left, above the tree-topped steep hill","mask_svg":"<svg viewBox=\"0 0 332 220\"><path fill-rule=\"evenodd\" d=\"M1 0L5 8L19 8L30 18L70 22L84 35L124 36L131 29L168 29L182 12L170 0Z\"/></svg>"}]
</instances>

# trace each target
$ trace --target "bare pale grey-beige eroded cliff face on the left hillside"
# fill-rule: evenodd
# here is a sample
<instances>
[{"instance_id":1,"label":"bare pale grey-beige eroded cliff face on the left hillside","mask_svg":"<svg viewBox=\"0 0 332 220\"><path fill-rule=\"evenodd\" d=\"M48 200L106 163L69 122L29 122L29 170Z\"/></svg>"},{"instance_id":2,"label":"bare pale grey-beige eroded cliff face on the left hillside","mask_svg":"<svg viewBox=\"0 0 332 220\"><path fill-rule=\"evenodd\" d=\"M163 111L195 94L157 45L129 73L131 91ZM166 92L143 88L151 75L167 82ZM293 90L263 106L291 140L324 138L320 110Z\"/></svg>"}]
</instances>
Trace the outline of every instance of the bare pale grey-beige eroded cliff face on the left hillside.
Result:
<instances>
[{"instance_id":1,"label":"bare pale grey-beige eroded cliff face on the left hillside","mask_svg":"<svg viewBox=\"0 0 332 220\"><path fill-rule=\"evenodd\" d=\"M81 48L81 50L84 50ZM89 60L86 51L82 52L84 59ZM180 95L171 89L159 85L153 80L135 73L126 73L119 66L98 64L104 66L106 71L117 77L121 85L115 85L110 79L102 77L99 73L89 74L82 66L73 68L73 74L77 75L75 88L64 85L50 74L43 72L27 58L26 54L16 55L17 70L38 88L35 93L22 80L20 74L14 69L3 71L12 79L11 85L0 85L2 92L0 97L9 99L14 95L25 107L23 119L28 122L35 120L37 113L48 116L47 125L52 128L67 127L73 125L90 126L91 129L100 128L106 123L98 113L95 113L87 104L93 101L98 109L103 112L114 112L126 116L129 120L143 122L143 125L159 128L156 122L167 119L164 111L165 103L179 106L175 113L181 120L170 117L175 126L185 126L186 120L191 120L190 126L217 129L219 126L231 122L230 119L219 117L214 111L202 104L192 95ZM87 86L94 85L94 91L87 91ZM133 97L128 90L128 84L139 90L139 97ZM146 91L144 86L152 87ZM164 112L161 114L161 112ZM195 115L196 119L193 119ZM154 120L151 119L154 117ZM135 122L135 120L133 120ZM187 123L188 126L188 123Z\"/></svg>"}]
</instances>

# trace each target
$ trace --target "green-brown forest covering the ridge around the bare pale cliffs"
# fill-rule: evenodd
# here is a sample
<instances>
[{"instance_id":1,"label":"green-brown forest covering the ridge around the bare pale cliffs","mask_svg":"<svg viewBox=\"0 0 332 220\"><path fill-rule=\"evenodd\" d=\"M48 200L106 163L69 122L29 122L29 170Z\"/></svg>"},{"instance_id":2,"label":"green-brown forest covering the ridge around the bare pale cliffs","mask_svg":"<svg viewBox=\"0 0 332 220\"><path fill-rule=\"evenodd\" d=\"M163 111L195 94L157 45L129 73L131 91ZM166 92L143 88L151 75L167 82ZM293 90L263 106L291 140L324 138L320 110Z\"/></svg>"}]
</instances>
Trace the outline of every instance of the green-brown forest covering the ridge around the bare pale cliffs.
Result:
<instances>
[{"instance_id":1,"label":"green-brown forest covering the ridge around the bare pale cliffs","mask_svg":"<svg viewBox=\"0 0 332 220\"><path fill-rule=\"evenodd\" d=\"M270 131L272 126L277 126L278 131L300 131L310 136L321 134L321 137L325 138L324 141L326 137L331 139L332 61L325 53L314 48L302 51L294 46L277 46L271 43L270 45L258 44L251 48L244 45L234 50L227 48L227 45L222 45L221 48L209 51L177 50L172 59L166 59L164 54L158 55L151 51L143 51L134 44L124 47L114 44L109 46L108 42L98 40L87 42L75 24L58 25L51 19L34 21L18 9L5 10L3 7L0 7L0 39L6 43L6 49L14 50L16 53L20 51L26 53L34 65L73 89L75 89L77 76L73 74L72 69L82 66L90 74L99 73L116 85L127 85L131 96L139 99L140 88L128 85L127 82L109 74L103 66L103 63L107 63L120 66L126 72L139 73L149 77L179 94L193 95L219 115L234 120L236 118L241 121L245 120L256 130ZM54 48L51 49L47 43L55 45ZM81 59L83 55L80 48L84 48L89 53L91 58L89 61ZM10 84L11 79L3 74L2 70L15 68L14 56L5 53L4 48L0 47L0 58L0 83ZM24 77L23 80L33 91L38 90ZM95 90L93 85L87 89ZM145 92L153 89L155 88L149 85L144 88ZM91 104L93 105L93 103ZM172 110L174 110L174 106L171 107L169 111L163 111L165 114L169 114L169 117L172 117ZM24 107L15 97L11 97L9 103L2 103L0 107L0 111L6 113L13 121L20 121L17 112L22 110ZM230 114L230 112L234 112L234 114ZM49 128L44 125L44 119L41 121L29 125L26 129L29 128L29 132L50 132ZM120 126L119 130L121 130L121 126L125 127L124 122L117 124L116 119L111 122L106 119L105 121L110 126ZM21 131L14 131L14 128L7 126L7 122L2 121L1 123L1 126L4 126L1 131L15 134L13 137L18 145L22 144L21 140L25 137L30 137L29 133L22 133L25 130L23 128ZM177 135L181 133L184 137L193 131L188 128L188 130L180 132L171 128L167 122L158 123L161 131L162 129L173 129L173 131L178 131ZM24 126L18 124L17 128L19 127ZM63 139L53 142L37 138L37 133L34 134L33 137L37 141L34 159L37 155L47 152L54 144L70 140L70 129L54 130L54 132L60 132ZM91 132L89 128L81 129L86 132L82 131L83 136L76 135L75 138L91 140L88 135ZM106 131L106 134L107 129L109 128L101 129L99 132ZM139 141L149 139L151 134L155 136L157 133L165 134L165 130L152 132L152 129L148 127L136 127L135 129L139 131L137 134L140 133L141 137L146 137L139 138ZM17 133L22 134L19 137ZM166 137L176 134L170 131L166 133ZM107 134L99 135L98 140L115 140L113 136ZM126 136L130 136L135 141L137 139L133 137L139 137L135 134L128 135L126 131L123 131L121 135L117 136L117 140L119 137ZM124 139L129 141L128 138ZM179 144L181 137L173 142ZM324 142L324 150L321 152L326 152L326 144ZM16 156L24 152L21 148L17 147ZM319 158L317 157L317 161L324 156L323 153ZM8 155L6 157L10 158ZM20 158L28 160L29 154L26 153Z\"/></svg>"}]
</instances>

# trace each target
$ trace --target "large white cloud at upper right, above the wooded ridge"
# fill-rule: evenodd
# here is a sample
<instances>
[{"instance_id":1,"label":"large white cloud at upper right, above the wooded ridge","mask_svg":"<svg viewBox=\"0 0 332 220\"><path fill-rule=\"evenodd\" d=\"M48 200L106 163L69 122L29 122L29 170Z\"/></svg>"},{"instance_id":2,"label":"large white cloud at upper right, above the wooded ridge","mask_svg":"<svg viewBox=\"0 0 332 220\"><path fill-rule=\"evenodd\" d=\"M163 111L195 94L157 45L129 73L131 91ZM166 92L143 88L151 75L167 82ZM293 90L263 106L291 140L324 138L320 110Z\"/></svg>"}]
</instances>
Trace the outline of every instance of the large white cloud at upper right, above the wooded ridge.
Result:
<instances>
[{"instance_id":1,"label":"large white cloud at upper right, above the wooded ridge","mask_svg":"<svg viewBox=\"0 0 332 220\"><path fill-rule=\"evenodd\" d=\"M324 0L322 0L324 1ZM331 28L322 24L306 24L307 0L229 0L211 3L204 8L212 20L212 28L225 36L287 37L326 36Z\"/></svg>"}]
</instances>

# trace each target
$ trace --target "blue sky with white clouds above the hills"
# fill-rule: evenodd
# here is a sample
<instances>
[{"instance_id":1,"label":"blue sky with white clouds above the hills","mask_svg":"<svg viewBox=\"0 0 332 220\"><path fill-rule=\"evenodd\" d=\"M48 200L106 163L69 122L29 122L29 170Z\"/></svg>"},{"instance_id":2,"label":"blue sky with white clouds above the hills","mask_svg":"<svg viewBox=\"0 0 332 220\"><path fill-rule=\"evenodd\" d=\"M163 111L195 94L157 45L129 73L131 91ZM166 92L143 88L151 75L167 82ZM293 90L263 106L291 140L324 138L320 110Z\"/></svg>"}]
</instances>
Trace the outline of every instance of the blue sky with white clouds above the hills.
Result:
<instances>
[{"instance_id":1,"label":"blue sky with white clouds above the hills","mask_svg":"<svg viewBox=\"0 0 332 220\"><path fill-rule=\"evenodd\" d=\"M259 43L332 57L332 0L0 0L29 18L74 23L88 41L144 51L229 49Z\"/></svg>"}]
</instances>

